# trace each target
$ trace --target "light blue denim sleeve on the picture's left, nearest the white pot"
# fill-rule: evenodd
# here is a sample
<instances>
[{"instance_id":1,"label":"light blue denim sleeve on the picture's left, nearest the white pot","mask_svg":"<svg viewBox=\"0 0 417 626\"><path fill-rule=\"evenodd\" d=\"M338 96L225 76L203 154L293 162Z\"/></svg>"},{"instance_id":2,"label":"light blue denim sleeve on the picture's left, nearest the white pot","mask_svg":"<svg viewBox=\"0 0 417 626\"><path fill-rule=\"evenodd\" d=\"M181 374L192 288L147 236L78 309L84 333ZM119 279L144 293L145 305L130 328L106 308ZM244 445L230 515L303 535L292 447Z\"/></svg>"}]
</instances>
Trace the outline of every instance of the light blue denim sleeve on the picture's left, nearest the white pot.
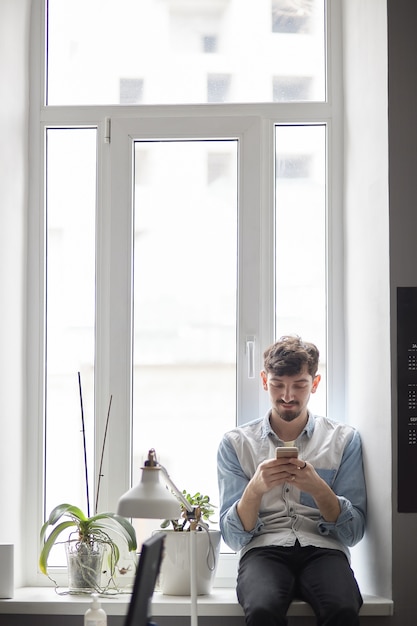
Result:
<instances>
[{"instance_id":1,"label":"light blue denim sleeve on the picture's left, nearest the white pot","mask_svg":"<svg viewBox=\"0 0 417 626\"><path fill-rule=\"evenodd\" d=\"M237 505L249 478L246 476L236 451L227 436L217 452L217 473L220 494L220 530L224 541L232 550L241 550L258 533L263 523L258 519L255 528L246 531L240 521Z\"/></svg>"}]
</instances>

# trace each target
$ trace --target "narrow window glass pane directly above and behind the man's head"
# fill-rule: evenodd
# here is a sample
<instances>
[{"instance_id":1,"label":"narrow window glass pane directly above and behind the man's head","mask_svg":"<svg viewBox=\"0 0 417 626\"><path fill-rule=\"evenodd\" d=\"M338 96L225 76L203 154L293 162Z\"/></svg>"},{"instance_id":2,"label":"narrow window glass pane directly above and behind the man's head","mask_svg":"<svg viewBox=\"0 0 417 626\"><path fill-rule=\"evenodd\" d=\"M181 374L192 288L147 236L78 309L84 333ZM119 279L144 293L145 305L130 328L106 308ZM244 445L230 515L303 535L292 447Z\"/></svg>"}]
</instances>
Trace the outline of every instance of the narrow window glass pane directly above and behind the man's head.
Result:
<instances>
[{"instance_id":1,"label":"narrow window glass pane directly above and behind the man's head","mask_svg":"<svg viewBox=\"0 0 417 626\"><path fill-rule=\"evenodd\" d=\"M320 350L311 408L326 414L326 127L276 126L276 335Z\"/></svg>"}]
</instances>

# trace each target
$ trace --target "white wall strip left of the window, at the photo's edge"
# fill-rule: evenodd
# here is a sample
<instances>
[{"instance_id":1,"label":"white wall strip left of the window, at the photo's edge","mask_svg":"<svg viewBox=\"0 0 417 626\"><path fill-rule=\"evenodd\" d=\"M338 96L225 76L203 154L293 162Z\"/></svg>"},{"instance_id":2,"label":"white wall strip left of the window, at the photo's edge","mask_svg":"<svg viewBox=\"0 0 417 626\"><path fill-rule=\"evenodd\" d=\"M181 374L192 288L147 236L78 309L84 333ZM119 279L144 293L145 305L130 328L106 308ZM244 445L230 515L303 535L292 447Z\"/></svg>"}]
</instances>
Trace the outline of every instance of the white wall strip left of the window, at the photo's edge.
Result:
<instances>
[{"instance_id":1,"label":"white wall strip left of the window, at the photo's edge","mask_svg":"<svg viewBox=\"0 0 417 626\"><path fill-rule=\"evenodd\" d=\"M30 0L0 2L0 543L20 583L25 410L25 220Z\"/></svg>"}]
</instances>

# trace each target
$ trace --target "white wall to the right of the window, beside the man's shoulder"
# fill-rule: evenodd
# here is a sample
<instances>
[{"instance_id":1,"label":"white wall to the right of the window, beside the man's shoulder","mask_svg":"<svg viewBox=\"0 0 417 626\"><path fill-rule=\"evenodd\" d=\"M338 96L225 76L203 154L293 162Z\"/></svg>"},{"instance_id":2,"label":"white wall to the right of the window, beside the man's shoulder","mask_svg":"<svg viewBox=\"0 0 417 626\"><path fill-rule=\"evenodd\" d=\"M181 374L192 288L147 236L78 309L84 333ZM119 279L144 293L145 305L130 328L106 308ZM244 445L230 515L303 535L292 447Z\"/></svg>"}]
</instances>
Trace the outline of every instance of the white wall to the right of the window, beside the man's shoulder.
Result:
<instances>
[{"instance_id":1,"label":"white wall to the right of the window, beside the man's shoulder","mask_svg":"<svg viewBox=\"0 0 417 626\"><path fill-rule=\"evenodd\" d=\"M391 400L385 0L344 0L346 404L361 432L362 591L391 597ZM360 70L360 71L358 71Z\"/></svg>"}]
</instances>

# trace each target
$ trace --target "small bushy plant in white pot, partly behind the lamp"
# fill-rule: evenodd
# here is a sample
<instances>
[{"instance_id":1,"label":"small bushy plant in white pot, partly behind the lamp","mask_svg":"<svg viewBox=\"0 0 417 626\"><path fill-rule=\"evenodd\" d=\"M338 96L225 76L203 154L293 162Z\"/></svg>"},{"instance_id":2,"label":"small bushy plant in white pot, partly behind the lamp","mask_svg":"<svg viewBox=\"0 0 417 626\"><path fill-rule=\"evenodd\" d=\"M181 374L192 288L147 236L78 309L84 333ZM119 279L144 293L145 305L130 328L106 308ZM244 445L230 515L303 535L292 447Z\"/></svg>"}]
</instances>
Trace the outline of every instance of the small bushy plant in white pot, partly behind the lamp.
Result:
<instances>
[{"instance_id":1,"label":"small bushy plant in white pot, partly behind the lamp","mask_svg":"<svg viewBox=\"0 0 417 626\"><path fill-rule=\"evenodd\" d=\"M181 505L180 519L165 520L161 527L166 533L165 552L161 563L160 589L166 595L190 595L190 530L196 531L196 572L197 594L211 592L220 553L221 533L209 529L214 514L214 505L209 496L200 492L191 495L183 490L183 495L196 510L190 516ZM169 529L169 527L172 527Z\"/></svg>"}]
</instances>

